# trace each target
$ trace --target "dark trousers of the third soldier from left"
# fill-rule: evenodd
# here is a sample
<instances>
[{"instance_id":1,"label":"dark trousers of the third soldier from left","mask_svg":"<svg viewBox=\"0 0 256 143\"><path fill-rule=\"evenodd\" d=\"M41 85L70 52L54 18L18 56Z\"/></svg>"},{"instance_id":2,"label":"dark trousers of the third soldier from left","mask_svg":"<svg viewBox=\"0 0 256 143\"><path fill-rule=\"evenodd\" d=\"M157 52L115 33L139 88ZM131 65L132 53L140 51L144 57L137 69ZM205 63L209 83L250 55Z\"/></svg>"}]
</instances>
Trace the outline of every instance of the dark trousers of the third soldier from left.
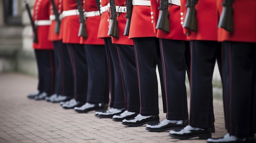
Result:
<instances>
[{"instance_id":1,"label":"dark trousers of the third soldier from left","mask_svg":"<svg viewBox=\"0 0 256 143\"><path fill-rule=\"evenodd\" d=\"M74 98L85 103L88 89L88 68L83 44L67 44L73 70Z\"/></svg>"}]
</instances>

